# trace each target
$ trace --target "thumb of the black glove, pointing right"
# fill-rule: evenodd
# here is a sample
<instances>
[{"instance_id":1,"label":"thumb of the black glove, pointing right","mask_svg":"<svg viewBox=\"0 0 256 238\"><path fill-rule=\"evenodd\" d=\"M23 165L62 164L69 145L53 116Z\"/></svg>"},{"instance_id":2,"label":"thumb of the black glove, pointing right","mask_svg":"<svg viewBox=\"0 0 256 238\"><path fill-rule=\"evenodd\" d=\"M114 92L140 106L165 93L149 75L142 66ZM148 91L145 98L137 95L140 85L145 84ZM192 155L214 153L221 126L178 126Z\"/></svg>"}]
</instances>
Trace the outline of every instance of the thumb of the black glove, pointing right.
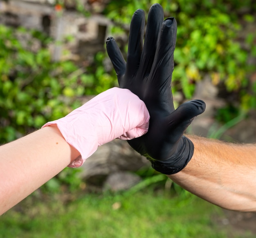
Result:
<instances>
[{"instance_id":1,"label":"thumb of the black glove, pointing right","mask_svg":"<svg viewBox=\"0 0 256 238\"><path fill-rule=\"evenodd\" d=\"M180 105L168 117L168 130L172 134L172 140L177 141L182 137L186 128L191 124L194 117L202 114L205 103L202 100L192 100Z\"/></svg>"}]
</instances>

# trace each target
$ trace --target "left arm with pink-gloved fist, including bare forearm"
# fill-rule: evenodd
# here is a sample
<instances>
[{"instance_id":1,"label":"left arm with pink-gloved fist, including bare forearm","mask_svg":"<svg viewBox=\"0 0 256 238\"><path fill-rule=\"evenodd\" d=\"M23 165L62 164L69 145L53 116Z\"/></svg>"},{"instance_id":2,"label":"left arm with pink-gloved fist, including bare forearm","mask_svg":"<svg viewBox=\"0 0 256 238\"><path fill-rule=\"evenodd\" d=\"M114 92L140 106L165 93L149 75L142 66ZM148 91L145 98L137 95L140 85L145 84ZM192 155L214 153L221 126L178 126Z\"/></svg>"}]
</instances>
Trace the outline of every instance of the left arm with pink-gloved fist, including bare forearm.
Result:
<instances>
[{"instance_id":1,"label":"left arm with pink-gloved fist, including bare forearm","mask_svg":"<svg viewBox=\"0 0 256 238\"><path fill-rule=\"evenodd\" d=\"M111 88L66 117L0 146L0 214L67 165L82 165L98 146L145 134L148 120L143 101L128 89Z\"/></svg>"}]
</instances>

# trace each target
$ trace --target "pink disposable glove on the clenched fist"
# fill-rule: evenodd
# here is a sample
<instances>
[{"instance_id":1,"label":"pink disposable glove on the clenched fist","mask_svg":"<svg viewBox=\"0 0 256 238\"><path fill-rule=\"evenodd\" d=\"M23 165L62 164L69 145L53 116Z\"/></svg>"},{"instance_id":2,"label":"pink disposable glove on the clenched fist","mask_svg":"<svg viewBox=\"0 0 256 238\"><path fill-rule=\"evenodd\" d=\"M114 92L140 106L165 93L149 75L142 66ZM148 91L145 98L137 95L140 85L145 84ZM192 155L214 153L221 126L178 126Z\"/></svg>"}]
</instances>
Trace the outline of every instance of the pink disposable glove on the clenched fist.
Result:
<instances>
[{"instance_id":1,"label":"pink disposable glove on the clenched fist","mask_svg":"<svg viewBox=\"0 0 256 238\"><path fill-rule=\"evenodd\" d=\"M130 90L110 88L67 116L47 122L56 124L64 139L81 154L69 167L79 167L99 145L115 138L130 140L148 131L149 113Z\"/></svg>"}]
</instances>

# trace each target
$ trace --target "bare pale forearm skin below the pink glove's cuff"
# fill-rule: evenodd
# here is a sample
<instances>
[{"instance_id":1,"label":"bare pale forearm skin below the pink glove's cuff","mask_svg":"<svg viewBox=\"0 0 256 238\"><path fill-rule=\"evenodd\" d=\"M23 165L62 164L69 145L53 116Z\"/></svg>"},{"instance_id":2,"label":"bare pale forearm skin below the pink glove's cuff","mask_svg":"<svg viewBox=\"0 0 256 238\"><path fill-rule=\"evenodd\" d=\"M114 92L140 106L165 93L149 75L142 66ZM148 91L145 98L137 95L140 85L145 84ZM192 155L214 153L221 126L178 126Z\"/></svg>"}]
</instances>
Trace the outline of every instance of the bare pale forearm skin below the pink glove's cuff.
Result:
<instances>
[{"instance_id":1,"label":"bare pale forearm skin below the pink glove's cuff","mask_svg":"<svg viewBox=\"0 0 256 238\"><path fill-rule=\"evenodd\" d=\"M1 215L61 172L80 153L52 125L0 146L0 155Z\"/></svg>"}]
</instances>

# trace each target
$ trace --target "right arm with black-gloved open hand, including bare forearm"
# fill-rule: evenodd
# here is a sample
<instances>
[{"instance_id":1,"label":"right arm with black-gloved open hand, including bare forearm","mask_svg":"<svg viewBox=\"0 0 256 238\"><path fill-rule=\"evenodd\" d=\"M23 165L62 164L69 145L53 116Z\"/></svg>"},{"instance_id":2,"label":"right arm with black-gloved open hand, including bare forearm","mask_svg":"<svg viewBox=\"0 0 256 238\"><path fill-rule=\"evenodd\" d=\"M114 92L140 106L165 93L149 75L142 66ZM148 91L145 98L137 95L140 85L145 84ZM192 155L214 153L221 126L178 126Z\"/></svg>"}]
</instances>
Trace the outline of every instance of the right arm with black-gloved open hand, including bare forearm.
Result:
<instances>
[{"instance_id":1,"label":"right arm with black-gloved open hand, including bare forearm","mask_svg":"<svg viewBox=\"0 0 256 238\"><path fill-rule=\"evenodd\" d=\"M156 170L207 201L228 209L256 210L255 145L183 136L193 117L204 111L205 104L193 100L174 110L171 75L177 25L173 18L163 23L162 20L162 9L154 4L148 13L142 47L144 18L141 11L135 12L127 63L115 41L107 41L120 87L131 89L145 101L150 112L148 133L128 143L146 156ZM127 77L131 68L132 74Z\"/></svg>"}]
</instances>

